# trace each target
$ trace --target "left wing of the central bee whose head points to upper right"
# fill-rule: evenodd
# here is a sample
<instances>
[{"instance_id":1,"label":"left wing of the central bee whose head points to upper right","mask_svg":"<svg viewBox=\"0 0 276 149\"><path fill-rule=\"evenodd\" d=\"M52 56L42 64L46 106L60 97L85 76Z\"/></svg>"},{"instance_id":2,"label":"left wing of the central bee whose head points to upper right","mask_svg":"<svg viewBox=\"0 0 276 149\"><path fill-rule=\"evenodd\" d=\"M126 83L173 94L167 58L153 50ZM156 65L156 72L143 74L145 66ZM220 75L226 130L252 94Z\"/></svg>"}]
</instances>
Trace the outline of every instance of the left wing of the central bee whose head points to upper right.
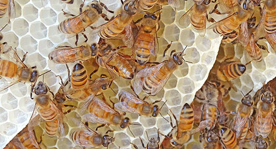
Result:
<instances>
[{"instance_id":1,"label":"left wing of the central bee whose head points to upper right","mask_svg":"<svg viewBox=\"0 0 276 149\"><path fill-rule=\"evenodd\" d=\"M141 71L139 71L135 78L134 78L134 92L135 94L140 94L142 89L143 89L143 82L144 82L144 78L148 77L150 74L156 72L157 70L159 70L161 67L163 67L166 64L167 61L164 61L160 64L151 66L151 67L147 67L142 69Z\"/></svg>"}]
</instances>

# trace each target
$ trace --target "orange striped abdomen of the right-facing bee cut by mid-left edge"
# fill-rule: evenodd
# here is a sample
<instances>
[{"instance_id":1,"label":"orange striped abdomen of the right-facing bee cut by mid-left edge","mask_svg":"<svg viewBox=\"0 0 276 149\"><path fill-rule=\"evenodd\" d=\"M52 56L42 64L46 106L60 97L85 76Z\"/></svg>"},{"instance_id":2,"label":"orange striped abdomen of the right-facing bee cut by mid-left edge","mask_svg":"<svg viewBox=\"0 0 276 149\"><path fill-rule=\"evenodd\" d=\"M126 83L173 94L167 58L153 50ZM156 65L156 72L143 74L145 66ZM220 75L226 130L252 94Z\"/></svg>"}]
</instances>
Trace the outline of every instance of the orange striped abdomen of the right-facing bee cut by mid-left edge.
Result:
<instances>
[{"instance_id":1,"label":"orange striped abdomen of the right-facing bee cut by mid-left edge","mask_svg":"<svg viewBox=\"0 0 276 149\"><path fill-rule=\"evenodd\" d=\"M0 75L4 77L15 77L17 72L17 65L13 62L0 59Z\"/></svg>"}]
</instances>

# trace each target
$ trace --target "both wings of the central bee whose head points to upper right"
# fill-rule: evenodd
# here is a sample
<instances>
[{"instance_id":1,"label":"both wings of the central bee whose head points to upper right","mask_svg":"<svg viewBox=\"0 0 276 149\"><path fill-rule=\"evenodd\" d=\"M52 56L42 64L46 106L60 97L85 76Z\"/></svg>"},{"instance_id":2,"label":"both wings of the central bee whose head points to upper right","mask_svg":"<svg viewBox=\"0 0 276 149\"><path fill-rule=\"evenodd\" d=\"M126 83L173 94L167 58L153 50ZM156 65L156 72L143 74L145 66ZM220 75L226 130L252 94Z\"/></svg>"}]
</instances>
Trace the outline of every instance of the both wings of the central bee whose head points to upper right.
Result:
<instances>
[{"instance_id":1,"label":"both wings of the central bee whose head points to upper right","mask_svg":"<svg viewBox=\"0 0 276 149\"><path fill-rule=\"evenodd\" d=\"M164 61L160 64L153 65L150 67L146 67L146 68L142 69L141 71L139 71L134 78L135 94L139 95L141 93L141 91L143 90L143 84L144 84L145 79L147 79L147 77L149 77L150 75L153 75L155 72L159 71L162 67L164 67L164 65L167 65L167 61ZM154 86L151 89L151 95L157 94L164 87L164 85L166 84L166 82L168 81L170 76L172 75L172 72L168 72L165 75L166 75L165 79L160 80L160 82L158 82L158 85Z\"/></svg>"}]
</instances>

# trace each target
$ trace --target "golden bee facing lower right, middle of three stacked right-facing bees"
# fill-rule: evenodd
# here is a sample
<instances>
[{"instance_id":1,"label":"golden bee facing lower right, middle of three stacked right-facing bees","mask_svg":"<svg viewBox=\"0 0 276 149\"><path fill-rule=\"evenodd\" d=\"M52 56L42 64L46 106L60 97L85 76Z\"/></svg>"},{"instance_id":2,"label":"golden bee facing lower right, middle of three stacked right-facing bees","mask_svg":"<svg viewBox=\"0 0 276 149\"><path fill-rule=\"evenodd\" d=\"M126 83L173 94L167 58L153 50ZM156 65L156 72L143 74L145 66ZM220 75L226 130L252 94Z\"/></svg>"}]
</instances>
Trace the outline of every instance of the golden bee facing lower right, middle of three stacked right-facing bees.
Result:
<instances>
[{"instance_id":1,"label":"golden bee facing lower right, middle of three stacked right-facing bees","mask_svg":"<svg viewBox=\"0 0 276 149\"><path fill-rule=\"evenodd\" d=\"M83 111L86 109L88 113L82 117L87 122L113 125L122 129L130 125L128 117L124 118L123 115L112 109L105 101L93 95L87 97L87 101L81 106L81 113L84 113Z\"/></svg>"}]
</instances>

